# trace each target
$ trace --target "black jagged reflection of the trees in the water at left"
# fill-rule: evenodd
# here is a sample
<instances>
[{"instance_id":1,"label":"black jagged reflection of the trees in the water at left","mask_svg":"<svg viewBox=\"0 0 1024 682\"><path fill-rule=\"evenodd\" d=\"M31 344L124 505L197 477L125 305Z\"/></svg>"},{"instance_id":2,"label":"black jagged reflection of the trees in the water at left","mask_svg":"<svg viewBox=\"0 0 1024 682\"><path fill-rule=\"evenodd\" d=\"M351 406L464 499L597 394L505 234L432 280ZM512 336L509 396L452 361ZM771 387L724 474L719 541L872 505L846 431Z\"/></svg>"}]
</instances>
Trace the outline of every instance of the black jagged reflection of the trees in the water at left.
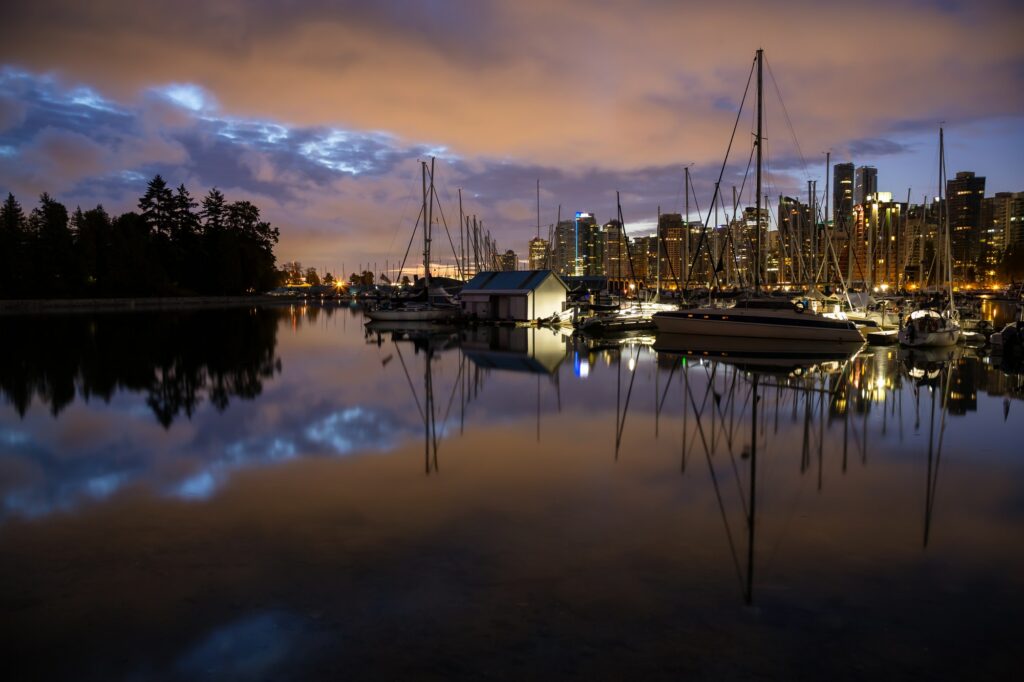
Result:
<instances>
[{"instance_id":1,"label":"black jagged reflection of the trees in the water at left","mask_svg":"<svg viewBox=\"0 0 1024 682\"><path fill-rule=\"evenodd\" d=\"M145 396L169 428L208 399L252 399L281 371L283 311L228 308L138 314L0 315L0 395L25 416L33 400L58 416L76 398Z\"/></svg>"}]
</instances>

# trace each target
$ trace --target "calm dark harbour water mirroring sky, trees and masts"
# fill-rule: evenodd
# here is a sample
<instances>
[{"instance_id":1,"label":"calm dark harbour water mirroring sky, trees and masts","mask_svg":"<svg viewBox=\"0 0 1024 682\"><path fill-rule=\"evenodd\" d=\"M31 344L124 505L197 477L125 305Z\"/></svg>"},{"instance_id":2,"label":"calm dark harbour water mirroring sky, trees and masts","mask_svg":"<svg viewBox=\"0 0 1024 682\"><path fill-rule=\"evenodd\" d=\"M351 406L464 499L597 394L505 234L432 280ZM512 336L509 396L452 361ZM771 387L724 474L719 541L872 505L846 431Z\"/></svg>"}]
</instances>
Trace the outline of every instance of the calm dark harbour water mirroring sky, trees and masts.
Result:
<instances>
[{"instance_id":1,"label":"calm dark harbour water mirroring sky, trees and masts","mask_svg":"<svg viewBox=\"0 0 1024 682\"><path fill-rule=\"evenodd\" d=\"M1019 675L1013 367L362 322L0 317L4 677Z\"/></svg>"}]
</instances>

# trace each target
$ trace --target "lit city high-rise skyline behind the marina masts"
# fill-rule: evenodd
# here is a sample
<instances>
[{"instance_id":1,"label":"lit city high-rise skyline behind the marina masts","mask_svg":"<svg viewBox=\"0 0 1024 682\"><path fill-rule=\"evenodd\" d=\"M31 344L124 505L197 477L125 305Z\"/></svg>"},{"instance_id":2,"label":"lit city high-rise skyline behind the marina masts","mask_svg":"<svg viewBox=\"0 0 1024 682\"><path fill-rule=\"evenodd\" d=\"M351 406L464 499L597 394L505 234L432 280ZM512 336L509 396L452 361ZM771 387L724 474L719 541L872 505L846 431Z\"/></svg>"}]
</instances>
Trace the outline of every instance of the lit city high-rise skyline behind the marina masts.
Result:
<instances>
[{"instance_id":1,"label":"lit city high-rise skyline behind the marina masts","mask_svg":"<svg viewBox=\"0 0 1024 682\"><path fill-rule=\"evenodd\" d=\"M753 281L760 227L761 281L767 285L842 280L865 290L926 288L947 276L937 257L945 249L940 221L946 214L956 286L1005 284L1004 259L1014 252L1024 255L1024 191L985 197L985 178L971 171L946 182L942 202L926 196L914 203L909 196L898 201L879 190L873 166L836 164L830 197L826 194L810 181L806 201L778 196L762 208L760 220L746 207L707 230L679 213L664 213L656 232L646 236L628 236L617 220L600 223L593 212L579 211L552 226L550 242L540 236L529 241L528 265L568 276L603 275L620 290L658 281L665 289L680 283L742 287ZM514 262L507 255L502 265Z\"/></svg>"}]
</instances>

